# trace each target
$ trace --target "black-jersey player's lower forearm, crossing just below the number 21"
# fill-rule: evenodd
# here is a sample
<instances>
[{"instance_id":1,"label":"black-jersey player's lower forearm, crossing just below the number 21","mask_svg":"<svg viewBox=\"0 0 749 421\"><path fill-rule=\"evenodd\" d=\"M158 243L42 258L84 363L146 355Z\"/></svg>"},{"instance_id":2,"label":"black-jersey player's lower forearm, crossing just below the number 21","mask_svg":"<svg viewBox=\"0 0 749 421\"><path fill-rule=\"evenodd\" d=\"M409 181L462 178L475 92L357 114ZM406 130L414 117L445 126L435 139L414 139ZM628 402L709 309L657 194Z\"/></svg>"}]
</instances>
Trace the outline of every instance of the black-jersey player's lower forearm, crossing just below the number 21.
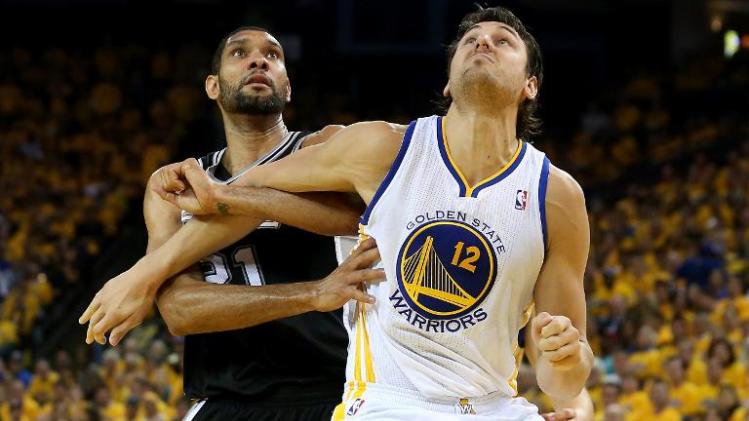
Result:
<instances>
[{"instance_id":1,"label":"black-jersey player's lower forearm, crossing just below the number 21","mask_svg":"<svg viewBox=\"0 0 749 421\"><path fill-rule=\"evenodd\" d=\"M159 312L175 336L243 329L315 310L313 282L216 285L199 272L179 275L157 296Z\"/></svg>"}]
</instances>

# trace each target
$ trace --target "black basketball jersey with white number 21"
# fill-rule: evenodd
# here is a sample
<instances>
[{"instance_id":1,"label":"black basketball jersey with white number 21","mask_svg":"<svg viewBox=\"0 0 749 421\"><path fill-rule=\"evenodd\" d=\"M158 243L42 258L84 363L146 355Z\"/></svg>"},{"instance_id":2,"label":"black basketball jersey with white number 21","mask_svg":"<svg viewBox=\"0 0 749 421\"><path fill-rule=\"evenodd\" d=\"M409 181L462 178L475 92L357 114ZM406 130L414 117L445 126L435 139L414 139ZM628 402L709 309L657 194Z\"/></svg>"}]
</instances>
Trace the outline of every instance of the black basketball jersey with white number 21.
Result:
<instances>
[{"instance_id":1,"label":"black basketball jersey with white number 21","mask_svg":"<svg viewBox=\"0 0 749 421\"><path fill-rule=\"evenodd\" d=\"M305 135L289 133L250 167L298 150ZM230 177L223 167L225 150L201 158L200 163L217 181L231 183L241 174ZM189 215L183 214L183 222L187 219ZM248 288L321 279L336 266L332 237L272 221L201 262L207 282ZM188 335L185 394L289 404L339 401L347 343L340 310L305 313L241 330Z\"/></svg>"}]
</instances>

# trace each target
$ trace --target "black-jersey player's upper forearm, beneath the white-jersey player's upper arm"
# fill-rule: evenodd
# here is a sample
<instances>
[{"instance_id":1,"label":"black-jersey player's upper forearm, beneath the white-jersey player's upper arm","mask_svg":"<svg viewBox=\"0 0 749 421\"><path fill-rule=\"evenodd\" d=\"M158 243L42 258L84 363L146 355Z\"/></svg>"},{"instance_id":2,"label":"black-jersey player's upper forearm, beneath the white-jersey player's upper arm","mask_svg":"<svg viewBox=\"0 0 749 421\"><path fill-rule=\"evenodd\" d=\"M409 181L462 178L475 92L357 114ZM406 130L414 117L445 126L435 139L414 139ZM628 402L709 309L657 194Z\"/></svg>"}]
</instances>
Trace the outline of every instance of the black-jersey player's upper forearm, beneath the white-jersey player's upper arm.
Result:
<instances>
[{"instance_id":1,"label":"black-jersey player's upper forearm, beneath the white-jersey player's upper arm","mask_svg":"<svg viewBox=\"0 0 749 421\"><path fill-rule=\"evenodd\" d=\"M345 193L293 194L280 190L227 185L217 192L219 210L274 220L323 235L357 232L363 205Z\"/></svg>"}]
</instances>

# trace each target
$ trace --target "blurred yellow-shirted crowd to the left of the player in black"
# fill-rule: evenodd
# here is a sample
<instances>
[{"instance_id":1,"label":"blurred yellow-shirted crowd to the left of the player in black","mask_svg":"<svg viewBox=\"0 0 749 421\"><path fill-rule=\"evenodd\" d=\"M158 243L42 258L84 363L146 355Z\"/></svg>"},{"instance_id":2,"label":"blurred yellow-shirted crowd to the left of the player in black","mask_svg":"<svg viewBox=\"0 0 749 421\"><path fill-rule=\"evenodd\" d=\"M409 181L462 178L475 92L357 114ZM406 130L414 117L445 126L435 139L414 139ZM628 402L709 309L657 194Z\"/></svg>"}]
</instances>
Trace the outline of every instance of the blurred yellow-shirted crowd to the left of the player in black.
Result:
<instances>
[{"instance_id":1,"label":"blurred yellow-shirted crowd to the left of the player in black","mask_svg":"<svg viewBox=\"0 0 749 421\"><path fill-rule=\"evenodd\" d=\"M0 420L178 415L171 340L84 352L75 364L34 350L46 311L91 282L148 176L201 110L199 68L183 70L191 59L140 47L0 54Z\"/></svg>"}]
</instances>

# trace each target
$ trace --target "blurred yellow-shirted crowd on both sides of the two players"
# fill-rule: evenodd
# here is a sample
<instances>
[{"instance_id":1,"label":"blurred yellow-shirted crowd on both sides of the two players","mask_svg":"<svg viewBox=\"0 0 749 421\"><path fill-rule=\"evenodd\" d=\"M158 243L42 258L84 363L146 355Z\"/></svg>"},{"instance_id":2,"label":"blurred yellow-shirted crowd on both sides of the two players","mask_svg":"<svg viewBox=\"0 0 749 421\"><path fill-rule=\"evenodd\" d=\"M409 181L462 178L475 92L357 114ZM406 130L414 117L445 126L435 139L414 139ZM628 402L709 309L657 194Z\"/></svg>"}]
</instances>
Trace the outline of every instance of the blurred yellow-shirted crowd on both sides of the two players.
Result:
<instances>
[{"instance_id":1,"label":"blurred yellow-shirted crowd on both sides of the two players","mask_svg":"<svg viewBox=\"0 0 749 421\"><path fill-rule=\"evenodd\" d=\"M126 214L139 212L148 176L211 109L204 57L142 47L0 54L0 421L184 416L182 343L158 318L117 349L50 359L36 353L45 341L37 328L55 322L45 315L72 285L92 283ZM570 140L538 140L584 187L604 186L588 195L585 278L598 420L749 413L749 135L740 118L749 107L736 96L749 71L702 63L637 75L591 102ZM327 101L329 123L356 120L350 99ZM295 106L287 120L318 121L306 116L315 109ZM522 393L549 408L522 373Z\"/></svg>"}]
</instances>

